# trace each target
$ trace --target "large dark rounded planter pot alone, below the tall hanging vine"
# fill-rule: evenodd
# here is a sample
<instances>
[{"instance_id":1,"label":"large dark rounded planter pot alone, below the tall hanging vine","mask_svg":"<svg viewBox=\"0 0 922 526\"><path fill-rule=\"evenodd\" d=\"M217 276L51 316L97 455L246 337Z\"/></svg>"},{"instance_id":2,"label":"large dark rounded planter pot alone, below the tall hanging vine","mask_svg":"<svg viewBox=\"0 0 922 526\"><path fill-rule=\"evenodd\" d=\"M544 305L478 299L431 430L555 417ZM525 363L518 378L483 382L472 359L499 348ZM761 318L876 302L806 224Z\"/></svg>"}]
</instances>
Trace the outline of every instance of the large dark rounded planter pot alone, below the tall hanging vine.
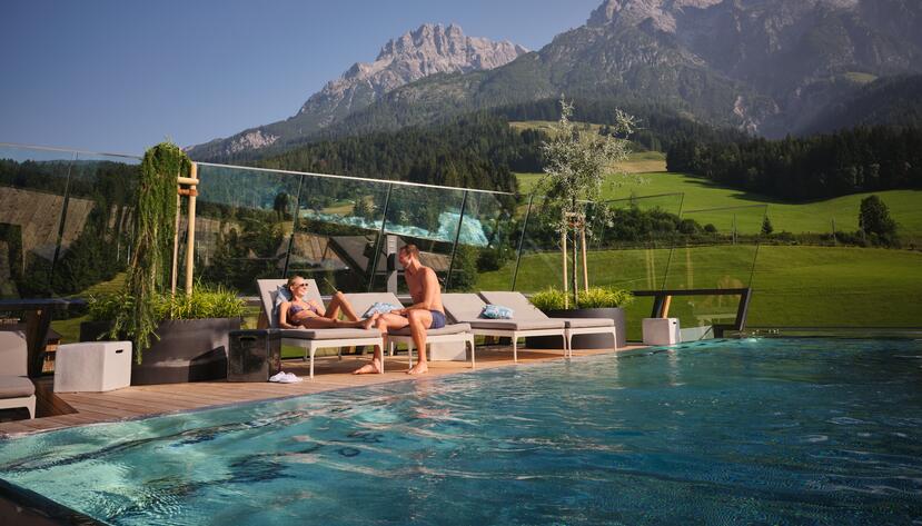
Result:
<instances>
[{"instance_id":1,"label":"large dark rounded planter pot alone, below the tall hanging vine","mask_svg":"<svg viewBox=\"0 0 922 526\"><path fill-rule=\"evenodd\" d=\"M80 324L80 341L97 341L109 321ZM240 318L162 321L138 365L131 360L131 385L185 384L227 378L228 334L240 328ZM123 338L127 339L127 338Z\"/></svg>"}]
</instances>

